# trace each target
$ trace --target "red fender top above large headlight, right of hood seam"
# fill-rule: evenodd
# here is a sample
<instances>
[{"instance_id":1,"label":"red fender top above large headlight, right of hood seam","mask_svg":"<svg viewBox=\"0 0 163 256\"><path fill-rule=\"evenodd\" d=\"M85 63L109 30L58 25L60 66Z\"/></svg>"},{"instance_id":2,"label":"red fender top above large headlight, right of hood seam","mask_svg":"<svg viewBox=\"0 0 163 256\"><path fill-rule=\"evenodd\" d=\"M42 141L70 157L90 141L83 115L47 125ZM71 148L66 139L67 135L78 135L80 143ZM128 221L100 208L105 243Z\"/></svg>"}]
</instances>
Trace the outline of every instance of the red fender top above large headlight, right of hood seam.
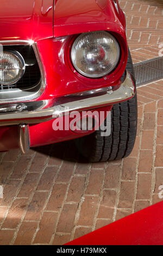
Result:
<instances>
[{"instance_id":1,"label":"red fender top above large headlight, right of hood seam","mask_svg":"<svg viewBox=\"0 0 163 256\"><path fill-rule=\"evenodd\" d=\"M54 36L96 30L125 33L124 15L112 0L54 0Z\"/></svg>"}]
</instances>

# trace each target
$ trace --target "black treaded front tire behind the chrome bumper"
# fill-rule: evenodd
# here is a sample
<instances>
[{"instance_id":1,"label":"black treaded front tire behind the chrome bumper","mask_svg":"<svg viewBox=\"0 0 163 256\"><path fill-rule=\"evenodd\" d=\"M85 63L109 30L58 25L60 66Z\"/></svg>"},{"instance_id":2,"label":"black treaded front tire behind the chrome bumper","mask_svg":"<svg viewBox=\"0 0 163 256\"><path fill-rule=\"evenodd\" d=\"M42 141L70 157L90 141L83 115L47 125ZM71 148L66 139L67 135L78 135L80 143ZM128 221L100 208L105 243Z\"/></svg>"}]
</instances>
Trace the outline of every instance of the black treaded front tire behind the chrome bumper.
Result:
<instances>
[{"instance_id":1,"label":"black treaded front tire behind the chrome bumper","mask_svg":"<svg viewBox=\"0 0 163 256\"><path fill-rule=\"evenodd\" d=\"M126 69L134 78L130 52ZM99 129L91 135L76 139L75 142L79 152L90 162L118 160L130 155L135 144L136 130L137 96L135 94L132 99L117 103L112 107L110 136L102 137L102 130Z\"/></svg>"}]
</instances>

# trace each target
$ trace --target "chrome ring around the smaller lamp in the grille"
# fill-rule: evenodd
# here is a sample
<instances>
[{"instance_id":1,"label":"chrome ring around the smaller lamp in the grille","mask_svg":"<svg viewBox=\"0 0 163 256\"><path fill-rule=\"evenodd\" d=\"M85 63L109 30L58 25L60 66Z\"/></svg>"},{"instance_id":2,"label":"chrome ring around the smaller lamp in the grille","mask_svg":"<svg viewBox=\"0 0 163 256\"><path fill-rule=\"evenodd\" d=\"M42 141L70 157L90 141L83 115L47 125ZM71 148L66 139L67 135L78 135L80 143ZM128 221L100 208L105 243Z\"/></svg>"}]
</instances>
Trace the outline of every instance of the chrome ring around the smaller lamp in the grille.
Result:
<instances>
[{"instance_id":1,"label":"chrome ring around the smaller lamp in the grille","mask_svg":"<svg viewBox=\"0 0 163 256\"><path fill-rule=\"evenodd\" d=\"M10 86L12 84L17 83L19 80L21 80L21 78L24 75L24 72L26 70L26 64L24 62L22 55L19 52L15 51L15 50L5 50L3 52L0 52L0 57L1 57L1 54L4 54L4 53L10 54L10 56L12 56L12 58L15 58L16 61L20 65L20 68L18 70L20 70L21 72L19 75L15 76L15 78L12 81L1 81L1 78L0 78L0 84L3 84L4 86ZM13 68L13 70L14 69L15 68ZM6 69L6 70L8 70L8 69Z\"/></svg>"}]
</instances>

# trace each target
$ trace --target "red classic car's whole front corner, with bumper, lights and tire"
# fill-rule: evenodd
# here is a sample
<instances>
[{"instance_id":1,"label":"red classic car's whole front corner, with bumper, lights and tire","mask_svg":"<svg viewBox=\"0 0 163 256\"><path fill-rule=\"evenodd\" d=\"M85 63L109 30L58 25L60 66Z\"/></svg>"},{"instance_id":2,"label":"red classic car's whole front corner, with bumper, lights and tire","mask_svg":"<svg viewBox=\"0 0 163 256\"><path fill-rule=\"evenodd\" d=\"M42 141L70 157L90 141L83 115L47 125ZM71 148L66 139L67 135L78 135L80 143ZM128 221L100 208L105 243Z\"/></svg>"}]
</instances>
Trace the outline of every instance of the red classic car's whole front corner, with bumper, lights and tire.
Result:
<instances>
[{"instance_id":1,"label":"red classic car's whole front corner, with bumper, lights and tire","mask_svg":"<svg viewBox=\"0 0 163 256\"><path fill-rule=\"evenodd\" d=\"M117 0L1 0L0 151L75 139L89 161L134 147L137 99Z\"/></svg>"}]
</instances>

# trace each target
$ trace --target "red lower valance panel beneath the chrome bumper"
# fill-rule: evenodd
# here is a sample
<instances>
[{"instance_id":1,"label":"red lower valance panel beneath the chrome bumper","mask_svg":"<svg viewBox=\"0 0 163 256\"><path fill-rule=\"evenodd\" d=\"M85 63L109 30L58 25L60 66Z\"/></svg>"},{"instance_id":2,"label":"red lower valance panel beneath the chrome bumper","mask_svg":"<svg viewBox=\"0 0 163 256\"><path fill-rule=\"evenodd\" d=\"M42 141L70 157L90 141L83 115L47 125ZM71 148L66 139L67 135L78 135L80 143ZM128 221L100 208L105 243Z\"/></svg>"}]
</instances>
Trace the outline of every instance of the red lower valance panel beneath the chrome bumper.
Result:
<instances>
[{"instance_id":1,"label":"red lower valance panel beneath the chrome bumper","mask_svg":"<svg viewBox=\"0 0 163 256\"><path fill-rule=\"evenodd\" d=\"M112 106L96 108L97 113L100 111L104 112L104 118L101 119L101 125L106 118L109 111L111 111ZM65 119L63 119L63 125L65 127ZM72 121L70 118L69 125ZM53 120L47 121L45 123L35 124L29 126L30 131L30 147L39 147L41 145L47 145L62 141L68 141L70 139L82 137L84 135L89 135L92 131L83 133L76 133L71 129L68 130L53 130ZM5 126L0 127L0 147L1 151L8 151L10 149L18 148L18 136L16 126Z\"/></svg>"}]
</instances>

